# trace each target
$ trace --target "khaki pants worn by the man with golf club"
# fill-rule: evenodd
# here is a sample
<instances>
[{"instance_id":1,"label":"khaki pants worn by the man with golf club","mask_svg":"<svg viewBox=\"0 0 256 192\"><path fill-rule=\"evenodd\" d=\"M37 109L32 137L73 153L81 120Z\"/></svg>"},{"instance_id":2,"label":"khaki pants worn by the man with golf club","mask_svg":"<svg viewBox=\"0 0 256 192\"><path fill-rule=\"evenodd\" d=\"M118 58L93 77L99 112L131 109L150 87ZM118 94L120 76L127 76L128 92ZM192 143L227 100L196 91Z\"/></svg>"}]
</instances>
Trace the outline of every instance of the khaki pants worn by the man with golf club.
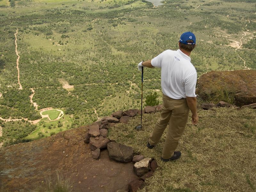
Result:
<instances>
[{"instance_id":1,"label":"khaki pants worn by the man with golf club","mask_svg":"<svg viewBox=\"0 0 256 192\"><path fill-rule=\"evenodd\" d=\"M161 117L157 120L148 140L150 145L156 145L170 121L162 158L169 159L173 156L187 124L188 112L189 108L186 99L171 99L163 94Z\"/></svg>"}]
</instances>

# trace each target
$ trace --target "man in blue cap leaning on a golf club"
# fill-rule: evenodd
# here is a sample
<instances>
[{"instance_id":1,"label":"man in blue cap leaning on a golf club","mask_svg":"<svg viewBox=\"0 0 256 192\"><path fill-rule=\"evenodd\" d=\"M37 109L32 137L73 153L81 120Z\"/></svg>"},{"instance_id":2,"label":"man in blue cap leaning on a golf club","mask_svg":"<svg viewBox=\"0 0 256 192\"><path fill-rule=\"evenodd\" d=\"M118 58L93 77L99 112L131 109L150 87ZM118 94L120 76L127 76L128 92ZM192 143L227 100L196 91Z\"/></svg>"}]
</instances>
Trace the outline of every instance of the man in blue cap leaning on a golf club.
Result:
<instances>
[{"instance_id":1,"label":"man in blue cap leaning on a golf club","mask_svg":"<svg viewBox=\"0 0 256 192\"><path fill-rule=\"evenodd\" d=\"M197 74L189 57L196 47L196 36L191 32L183 33L180 36L179 47L177 51L166 50L154 59L142 61L138 65L140 71L142 66L161 68L162 113L149 136L147 146L155 147L170 121L161 156L164 162L181 156L181 152L175 149L187 124L189 109L192 112L192 123L198 122L195 94Z\"/></svg>"}]
</instances>

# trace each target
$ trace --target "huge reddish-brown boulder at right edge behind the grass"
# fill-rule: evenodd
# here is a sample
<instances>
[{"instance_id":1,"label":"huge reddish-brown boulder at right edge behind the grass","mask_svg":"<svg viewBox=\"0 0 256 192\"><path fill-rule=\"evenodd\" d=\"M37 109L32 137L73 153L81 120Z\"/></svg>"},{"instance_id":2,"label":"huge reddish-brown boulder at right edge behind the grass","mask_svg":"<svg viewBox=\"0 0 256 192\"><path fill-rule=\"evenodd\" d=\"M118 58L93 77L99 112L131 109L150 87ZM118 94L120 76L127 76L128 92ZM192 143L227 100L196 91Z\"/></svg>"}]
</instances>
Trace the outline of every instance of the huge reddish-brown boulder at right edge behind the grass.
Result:
<instances>
[{"instance_id":1,"label":"huge reddish-brown boulder at right edge behind the grass","mask_svg":"<svg viewBox=\"0 0 256 192\"><path fill-rule=\"evenodd\" d=\"M197 93L205 100L209 96L228 93L236 106L256 103L256 70L211 71L200 76Z\"/></svg>"}]
</instances>

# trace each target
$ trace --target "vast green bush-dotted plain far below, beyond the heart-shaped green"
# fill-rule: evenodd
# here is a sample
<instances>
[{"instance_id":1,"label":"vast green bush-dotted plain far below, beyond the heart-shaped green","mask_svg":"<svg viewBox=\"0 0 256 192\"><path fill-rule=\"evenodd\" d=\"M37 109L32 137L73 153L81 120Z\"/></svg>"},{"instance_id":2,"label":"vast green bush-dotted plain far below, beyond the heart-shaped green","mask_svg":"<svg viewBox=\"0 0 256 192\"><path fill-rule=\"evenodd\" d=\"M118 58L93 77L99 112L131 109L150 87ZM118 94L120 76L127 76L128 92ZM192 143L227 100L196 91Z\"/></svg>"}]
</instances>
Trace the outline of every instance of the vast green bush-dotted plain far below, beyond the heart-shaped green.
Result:
<instances>
[{"instance_id":1,"label":"vast green bush-dotted plain far below, beyond the heart-shaped green","mask_svg":"<svg viewBox=\"0 0 256 192\"><path fill-rule=\"evenodd\" d=\"M4 119L36 120L37 108L61 108L74 128L119 109L140 108L138 62L178 49L180 34L188 30L197 37L191 61L198 76L256 69L251 0L167 0L159 7L141 0L20 0L13 7L2 0L0 5ZM161 97L159 79L159 69L145 69L144 98L155 90Z\"/></svg>"}]
</instances>

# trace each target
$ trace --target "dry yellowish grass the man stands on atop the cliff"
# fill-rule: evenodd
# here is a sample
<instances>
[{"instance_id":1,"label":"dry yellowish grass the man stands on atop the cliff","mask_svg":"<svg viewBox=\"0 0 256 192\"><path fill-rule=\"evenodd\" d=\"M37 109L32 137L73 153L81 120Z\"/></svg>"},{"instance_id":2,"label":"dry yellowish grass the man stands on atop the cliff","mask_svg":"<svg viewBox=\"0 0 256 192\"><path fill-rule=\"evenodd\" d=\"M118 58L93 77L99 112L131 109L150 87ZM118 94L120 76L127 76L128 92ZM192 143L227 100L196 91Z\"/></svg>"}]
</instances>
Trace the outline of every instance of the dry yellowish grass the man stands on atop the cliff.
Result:
<instances>
[{"instance_id":1,"label":"dry yellowish grass the man stands on atop the cliff","mask_svg":"<svg viewBox=\"0 0 256 192\"><path fill-rule=\"evenodd\" d=\"M146 147L159 116L144 114L140 132L134 130L140 124L139 116L127 125L117 124L109 132L109 139L156 159L159 168L140 192L255 191L256 110L199 110L198 125L192 125L189 118L180 140L177 150L182 152L181 158L167 163L160 160L166 131L155 148Z\"/></svg>"}]
</instances>

